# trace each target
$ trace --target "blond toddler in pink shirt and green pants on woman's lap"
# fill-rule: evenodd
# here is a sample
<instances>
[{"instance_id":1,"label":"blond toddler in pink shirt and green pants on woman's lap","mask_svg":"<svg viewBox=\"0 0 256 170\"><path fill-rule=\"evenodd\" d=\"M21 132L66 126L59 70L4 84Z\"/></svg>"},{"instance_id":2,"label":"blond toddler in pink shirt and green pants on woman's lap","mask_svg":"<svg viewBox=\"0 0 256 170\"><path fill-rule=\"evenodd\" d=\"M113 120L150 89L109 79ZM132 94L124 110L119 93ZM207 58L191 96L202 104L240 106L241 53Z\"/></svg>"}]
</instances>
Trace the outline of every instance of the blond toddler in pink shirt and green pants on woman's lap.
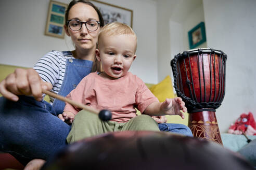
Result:
<instances>
[{"instance_id":1,"label":"blond toddler in pink shirt and green pants on woman's lap","mask_svg":"<svg viewBox=\"0 0 256 170\"><path fill-rule=\"evenodd\" d=\"M129 72L136 58L137 37L130 26L113 22L105 25L98 37L96 58L104 72L91 73L67 96L95 109L108 109L112 120L101 121L97 115L66 103L62 120L72 123L68 143L106 132L159 131L151 116L180 115L186 111L182 98L167 98L160 103L145 83ZM142 115L137 116L137 108Z\"/></svg>"}]
</instances>

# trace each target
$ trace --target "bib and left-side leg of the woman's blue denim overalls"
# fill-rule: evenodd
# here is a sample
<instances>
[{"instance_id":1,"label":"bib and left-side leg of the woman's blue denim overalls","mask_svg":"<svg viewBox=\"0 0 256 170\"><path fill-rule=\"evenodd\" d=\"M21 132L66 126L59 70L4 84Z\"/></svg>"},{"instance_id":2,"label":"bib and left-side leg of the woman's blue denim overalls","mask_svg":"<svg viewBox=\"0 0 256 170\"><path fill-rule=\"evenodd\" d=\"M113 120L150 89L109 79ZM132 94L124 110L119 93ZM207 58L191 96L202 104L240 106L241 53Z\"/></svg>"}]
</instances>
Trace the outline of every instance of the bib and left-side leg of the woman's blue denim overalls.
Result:
<instances>
[{"instance_id":1,"label":"bib and left-side leg of the woman's blue denim overalls","mask_svg":"<svg viewBox=\"0 0 256 170\"><path fill-rule=\"evenodd\" d=\"M72 55L71 52L63 52ZM67 60L65 78L59 95L66 96L80 80L91 73L92 61ZM48 159L67 145L71 126L58 118L65 106L55 100L53 106L19 96L18 102L0 98L0 151L9 152L23 164L34 158Z\"/></svg>"}]
</instances>

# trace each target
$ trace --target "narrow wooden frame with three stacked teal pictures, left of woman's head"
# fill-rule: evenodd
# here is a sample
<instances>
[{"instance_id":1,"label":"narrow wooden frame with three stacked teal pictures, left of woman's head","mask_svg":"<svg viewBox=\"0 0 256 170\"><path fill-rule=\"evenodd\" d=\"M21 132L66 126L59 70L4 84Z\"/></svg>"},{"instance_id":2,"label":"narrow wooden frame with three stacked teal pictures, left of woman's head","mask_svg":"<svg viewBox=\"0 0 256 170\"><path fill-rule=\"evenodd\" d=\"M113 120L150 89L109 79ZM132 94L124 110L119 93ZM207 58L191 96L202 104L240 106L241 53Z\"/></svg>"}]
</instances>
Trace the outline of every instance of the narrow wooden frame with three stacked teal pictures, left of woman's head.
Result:
<instances>
[{"instance_id":1,"label":"narrow wooden frame with three stacked teal pictures, left of woman's head","mask_svg":"<svg viewBox=\"0 0 256 170\"><path fill-rule=\"evenodd\" d=\"M45 26L45 35L64 38L65 11L68 5L56 1L50 1L48 16Z\"/></svg>"}]
</instances>

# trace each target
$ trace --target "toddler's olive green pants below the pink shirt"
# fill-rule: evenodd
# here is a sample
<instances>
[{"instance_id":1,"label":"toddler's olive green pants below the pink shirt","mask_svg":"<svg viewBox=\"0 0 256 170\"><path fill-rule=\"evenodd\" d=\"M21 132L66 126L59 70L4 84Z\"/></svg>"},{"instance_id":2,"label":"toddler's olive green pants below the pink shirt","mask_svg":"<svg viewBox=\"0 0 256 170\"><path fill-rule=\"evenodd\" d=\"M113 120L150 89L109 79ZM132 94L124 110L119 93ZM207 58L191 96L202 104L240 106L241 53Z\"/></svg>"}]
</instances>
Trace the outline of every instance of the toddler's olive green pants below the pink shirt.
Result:
<instances>
[{"instance_id":1,"label":"toddler's olive green pants below the pink shirt","mask_svg":"<svg viewBox=\"0 0 256 170\"><path fill-rule=\"evenodd\" d=\"M98 115L81 110L74 118L71 131L67 137L68 143L80 139L118 131L160 131L158 124L148 115L139 115L128 122L102 121Z\"/></svg>"}]
</instances>

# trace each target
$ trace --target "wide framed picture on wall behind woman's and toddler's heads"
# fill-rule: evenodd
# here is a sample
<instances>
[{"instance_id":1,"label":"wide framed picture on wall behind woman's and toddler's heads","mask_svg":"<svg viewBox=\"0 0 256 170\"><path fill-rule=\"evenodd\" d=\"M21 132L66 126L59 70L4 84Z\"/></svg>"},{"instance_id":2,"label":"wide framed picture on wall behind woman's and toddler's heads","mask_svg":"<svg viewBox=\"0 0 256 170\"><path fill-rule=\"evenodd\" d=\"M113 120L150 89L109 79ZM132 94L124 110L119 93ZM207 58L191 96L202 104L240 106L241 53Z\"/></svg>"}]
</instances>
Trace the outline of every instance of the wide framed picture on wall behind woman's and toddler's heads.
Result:
<instances>
[{"instance_id":1,"label":"wide framed picture on wall behind woman's and toddler's heads","mask_svg":"<svg viewBox=\"0 0 256 170\"><path fill-rule=\"evenodd\" d=\"M116 5L91 0L101 12L105 24L118 21L133 27L133 11Z\"/></svg>"}]
</instances>

